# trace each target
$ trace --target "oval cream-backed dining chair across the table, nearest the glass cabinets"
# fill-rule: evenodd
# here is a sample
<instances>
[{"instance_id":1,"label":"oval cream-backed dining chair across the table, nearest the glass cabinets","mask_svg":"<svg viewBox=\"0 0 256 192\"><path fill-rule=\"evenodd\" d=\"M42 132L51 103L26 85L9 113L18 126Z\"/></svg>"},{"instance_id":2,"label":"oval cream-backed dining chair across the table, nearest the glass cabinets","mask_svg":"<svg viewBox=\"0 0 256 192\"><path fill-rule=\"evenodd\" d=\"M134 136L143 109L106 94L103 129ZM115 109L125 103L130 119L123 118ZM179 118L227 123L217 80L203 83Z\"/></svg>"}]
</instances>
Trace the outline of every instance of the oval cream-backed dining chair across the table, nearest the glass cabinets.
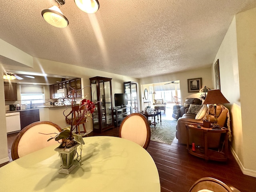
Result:
<instances>
[{"instance_id":1,"label":"oval cream-backed dining chair across the table, nearest the glass cabinets","mask_svg":"<svg viewBox=\"0 0 256 192\"><path fill-rule=\"evenodd\" d=\"M148 148L151 131L147 118L140 113L126 116L120 125L119 136Z\"/></svg>"}]
</instances>

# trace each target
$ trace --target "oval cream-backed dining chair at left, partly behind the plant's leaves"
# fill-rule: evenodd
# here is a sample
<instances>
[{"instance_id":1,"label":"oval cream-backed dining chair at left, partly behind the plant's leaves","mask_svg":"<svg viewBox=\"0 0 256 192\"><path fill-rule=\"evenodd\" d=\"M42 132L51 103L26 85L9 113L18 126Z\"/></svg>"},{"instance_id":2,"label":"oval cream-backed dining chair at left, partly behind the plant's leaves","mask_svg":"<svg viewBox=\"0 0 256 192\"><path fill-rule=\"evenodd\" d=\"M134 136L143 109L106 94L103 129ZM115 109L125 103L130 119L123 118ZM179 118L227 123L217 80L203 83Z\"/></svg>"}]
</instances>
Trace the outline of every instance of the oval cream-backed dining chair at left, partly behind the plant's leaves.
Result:
<instances>
[{"instance_id":1,"label":"oval cream-backed dining chair at left, partly behind the plant's leaves","mask_svg":"<svg viewBox=\"0 0 256 192\"><path fill-rule=\"evenodd\" d=\"M49 121L38 121L26 126L14 139L11 149L12 160L16 160L47 146L57 144L58 141L54 139L47 140L51 134L55 136L56 133L61 131L61 128L57 124Z\"/></svg>"}]
</instances>

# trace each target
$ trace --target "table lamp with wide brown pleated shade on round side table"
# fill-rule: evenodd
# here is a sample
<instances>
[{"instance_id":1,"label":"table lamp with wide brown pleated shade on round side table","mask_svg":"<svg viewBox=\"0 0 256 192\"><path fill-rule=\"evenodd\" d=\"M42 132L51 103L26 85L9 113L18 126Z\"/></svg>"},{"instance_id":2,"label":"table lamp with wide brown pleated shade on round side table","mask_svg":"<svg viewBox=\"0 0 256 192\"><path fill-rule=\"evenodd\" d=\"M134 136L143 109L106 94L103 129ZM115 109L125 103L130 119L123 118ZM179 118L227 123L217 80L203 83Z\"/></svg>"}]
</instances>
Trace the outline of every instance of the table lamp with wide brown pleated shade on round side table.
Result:
<instances>
[{"instance_id":1,"label":"table lamp with wide brown pleated shade on round side table","mask_svg":"<svg viewBox=\"0 0 256 192\"><path fill-rule=\"evenodd\" d=\"M214 124L218 122L216 115L216 107L218 104L230 103L220 92L219 89L208 90L207 96L204 100L204 104L214 104Z\"/></svg>"}]
</instances>

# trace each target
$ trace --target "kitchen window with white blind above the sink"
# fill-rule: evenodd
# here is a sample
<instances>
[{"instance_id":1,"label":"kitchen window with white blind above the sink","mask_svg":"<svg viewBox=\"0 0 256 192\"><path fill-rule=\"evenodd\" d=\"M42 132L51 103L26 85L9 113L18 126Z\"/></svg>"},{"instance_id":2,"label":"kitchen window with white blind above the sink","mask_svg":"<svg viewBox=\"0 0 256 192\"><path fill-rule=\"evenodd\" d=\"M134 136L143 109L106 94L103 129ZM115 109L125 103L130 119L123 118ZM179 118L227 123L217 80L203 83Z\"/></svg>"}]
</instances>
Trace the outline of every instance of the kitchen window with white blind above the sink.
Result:
<instances>
[{"instance_id":1,"label":"kitchen window with white blind above the sink","mask_svg":"<svg viewBox=\"0 0 256 192\"><path fill-rule=\"evenodd\" d=\"M20 85L21 104L44 103L44 86Z\"/></svg>"}]
</instances>

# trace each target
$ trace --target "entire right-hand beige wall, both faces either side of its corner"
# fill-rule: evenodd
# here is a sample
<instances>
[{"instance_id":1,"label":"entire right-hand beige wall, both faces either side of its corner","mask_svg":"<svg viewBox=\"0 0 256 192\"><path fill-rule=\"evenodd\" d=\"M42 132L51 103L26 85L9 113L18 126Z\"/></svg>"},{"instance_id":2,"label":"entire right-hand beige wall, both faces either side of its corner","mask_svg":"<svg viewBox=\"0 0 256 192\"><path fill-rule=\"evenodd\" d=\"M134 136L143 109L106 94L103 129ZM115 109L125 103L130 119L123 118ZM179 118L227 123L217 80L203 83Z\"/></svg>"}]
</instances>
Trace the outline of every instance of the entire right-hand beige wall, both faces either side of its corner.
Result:
<instances>
[{"instance_id":1,"label":"entire right-hand beige wall, both faces either side of its corner","mask_svg":"<svg viewBox=\"0 0 256 192\"><path fill-rule=\"evenodd\" d=\"M230 104L232 151L244 174L256 176L256 132L253 95L256 94L256 8L237 14L212 64L219 59L220 87ZM213 76L213 82L215 82ZM215 85L214 85L215 86Z\"/></svg>"}]
</instances>

